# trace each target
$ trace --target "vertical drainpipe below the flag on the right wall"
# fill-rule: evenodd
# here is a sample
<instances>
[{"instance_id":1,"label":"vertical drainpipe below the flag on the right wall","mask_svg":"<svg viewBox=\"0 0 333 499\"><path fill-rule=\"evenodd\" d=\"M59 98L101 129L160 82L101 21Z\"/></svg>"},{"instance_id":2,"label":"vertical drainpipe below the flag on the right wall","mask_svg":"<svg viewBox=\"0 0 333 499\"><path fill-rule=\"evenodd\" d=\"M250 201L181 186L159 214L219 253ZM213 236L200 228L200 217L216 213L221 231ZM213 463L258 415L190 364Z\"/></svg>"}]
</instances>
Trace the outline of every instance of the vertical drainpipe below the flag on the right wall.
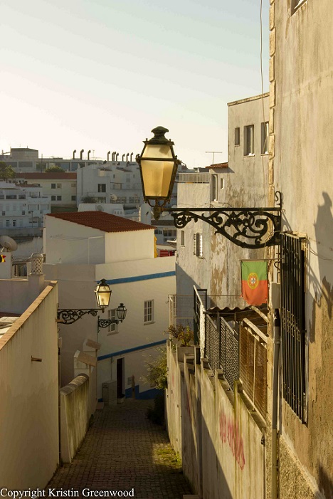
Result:
<instances>
[{"instance_id":1,"label":"vertical drainpipe below the flag on the right wall","mask_svg":"<svg viewBox=\"0 0 333 499\"><path fill-rule=\"evenodd\" d=\"M273 406L272 406L272 499L277 499L277 394L280 362L280 313L274 312Z\"/></svg>"}]
</instances>

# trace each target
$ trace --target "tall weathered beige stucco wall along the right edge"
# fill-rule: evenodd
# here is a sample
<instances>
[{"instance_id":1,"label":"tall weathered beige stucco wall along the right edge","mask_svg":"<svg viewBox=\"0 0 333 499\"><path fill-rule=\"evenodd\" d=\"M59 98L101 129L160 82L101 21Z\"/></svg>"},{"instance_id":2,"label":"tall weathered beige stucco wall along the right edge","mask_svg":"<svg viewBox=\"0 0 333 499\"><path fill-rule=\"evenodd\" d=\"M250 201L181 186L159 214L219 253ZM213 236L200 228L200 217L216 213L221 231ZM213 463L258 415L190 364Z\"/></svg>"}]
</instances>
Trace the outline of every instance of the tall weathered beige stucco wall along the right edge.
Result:
<instances>
[{"instance_id":1,"label":"tall weathered beige stucco wall along the right edge","mask_svg":"<svg viewBox=\"0 0 333 499\"><path fill-rule=\"evenodd\" d=\"M270 163L283 194L283 229L307 237L307 424L283 404L280 494L296 497L296 483L297 497L317 497L319 488L331 498L333 4L308 0L292 14L290 1L270 3Z\"/></svg>"}]
</instances>

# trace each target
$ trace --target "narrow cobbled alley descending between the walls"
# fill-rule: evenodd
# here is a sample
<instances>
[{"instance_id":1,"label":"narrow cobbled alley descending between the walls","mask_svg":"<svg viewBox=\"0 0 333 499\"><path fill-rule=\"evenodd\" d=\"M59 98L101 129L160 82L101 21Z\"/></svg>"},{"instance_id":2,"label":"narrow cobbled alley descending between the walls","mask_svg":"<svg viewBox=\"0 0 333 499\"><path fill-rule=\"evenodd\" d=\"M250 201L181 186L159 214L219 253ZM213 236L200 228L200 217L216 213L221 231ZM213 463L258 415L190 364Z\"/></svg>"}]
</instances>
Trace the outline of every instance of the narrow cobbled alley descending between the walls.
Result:
<instances>
[{"instance_id":1,"label":"narrow cobbled alley descending between the walls","mask_svg":"<svg viewBox=\"0 0 333 499\"><path fill-rule=\"evenodd\" d=\"M107 497L97 491L112 490L113 497L182 499L190 494L166 431L146 417L152 404L127 399L97 410L73 462L59 468L46 495Z\"/></svg>"}]
</instances>

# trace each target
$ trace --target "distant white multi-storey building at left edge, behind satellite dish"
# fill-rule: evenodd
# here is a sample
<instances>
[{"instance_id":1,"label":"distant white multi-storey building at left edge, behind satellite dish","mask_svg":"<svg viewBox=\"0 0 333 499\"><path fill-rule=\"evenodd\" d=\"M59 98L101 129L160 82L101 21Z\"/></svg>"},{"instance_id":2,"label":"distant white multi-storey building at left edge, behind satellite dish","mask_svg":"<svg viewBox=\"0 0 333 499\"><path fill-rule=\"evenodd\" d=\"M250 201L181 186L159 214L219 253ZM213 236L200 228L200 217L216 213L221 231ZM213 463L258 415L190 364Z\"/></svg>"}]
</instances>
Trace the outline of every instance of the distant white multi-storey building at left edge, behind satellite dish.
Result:
<instances>
[{"instance_id":1,"label":"distant white multi-storey building at left edge, behind satellite dish","mask_svg":"<svg viewBox=\"0 0 333 499\"><path fill-rule=\"evenodd\" d=\"M50 196L41 187L18 187L0 182L0 229L24 229L43 226L43 216L51 211Z\"/></svg>"}]
</instances>

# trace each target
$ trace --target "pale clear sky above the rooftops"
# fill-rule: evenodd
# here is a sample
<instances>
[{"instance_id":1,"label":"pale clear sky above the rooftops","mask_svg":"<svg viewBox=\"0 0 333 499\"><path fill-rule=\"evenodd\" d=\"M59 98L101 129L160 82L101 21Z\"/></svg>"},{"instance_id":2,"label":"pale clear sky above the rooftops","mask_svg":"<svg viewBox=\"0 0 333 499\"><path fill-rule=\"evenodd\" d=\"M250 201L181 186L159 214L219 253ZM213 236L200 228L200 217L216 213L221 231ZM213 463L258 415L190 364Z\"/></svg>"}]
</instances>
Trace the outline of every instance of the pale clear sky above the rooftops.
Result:
<instances>
[{"instance_id":1,"label":"pale clear sky above the rooftops","mask_svg":"<svg viewBox=\"0 0 333 499\"><path fill-rule=\"evenodd\" d=\"M0 60L0 152L135 156L162 125L204 167L228 159L227 103L262 91L260 0L2 0Z\"/></svg>"}]
</instances>

